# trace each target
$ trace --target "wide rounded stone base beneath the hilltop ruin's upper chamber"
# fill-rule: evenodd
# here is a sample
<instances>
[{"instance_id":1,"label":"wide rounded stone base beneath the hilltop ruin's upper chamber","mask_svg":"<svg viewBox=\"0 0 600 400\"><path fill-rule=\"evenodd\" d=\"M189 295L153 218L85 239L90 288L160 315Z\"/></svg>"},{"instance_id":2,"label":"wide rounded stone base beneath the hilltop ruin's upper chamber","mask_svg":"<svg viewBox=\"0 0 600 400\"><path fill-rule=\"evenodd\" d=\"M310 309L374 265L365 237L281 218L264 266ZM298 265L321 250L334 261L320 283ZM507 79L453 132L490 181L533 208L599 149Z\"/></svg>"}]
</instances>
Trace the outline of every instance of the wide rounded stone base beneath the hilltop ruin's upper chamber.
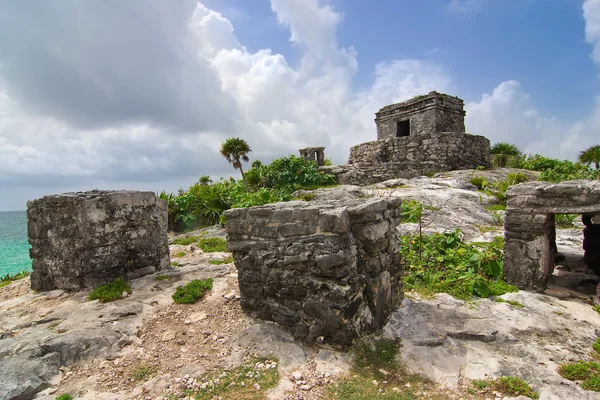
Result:
<instances>
[{"instance_id":1,"label":"wide rounded stone base beneath the hilltop ruin's upper chamber","mask_svg":"<svg viewBox=\"0 0 600 400\"><path fill-rule=\"evenodd\" d=\"M363 143L347 165L323 168L342 184L367 185L430 172L491 167L490 141L465 133L432 133Z\"/></svg>"}]
</instances>

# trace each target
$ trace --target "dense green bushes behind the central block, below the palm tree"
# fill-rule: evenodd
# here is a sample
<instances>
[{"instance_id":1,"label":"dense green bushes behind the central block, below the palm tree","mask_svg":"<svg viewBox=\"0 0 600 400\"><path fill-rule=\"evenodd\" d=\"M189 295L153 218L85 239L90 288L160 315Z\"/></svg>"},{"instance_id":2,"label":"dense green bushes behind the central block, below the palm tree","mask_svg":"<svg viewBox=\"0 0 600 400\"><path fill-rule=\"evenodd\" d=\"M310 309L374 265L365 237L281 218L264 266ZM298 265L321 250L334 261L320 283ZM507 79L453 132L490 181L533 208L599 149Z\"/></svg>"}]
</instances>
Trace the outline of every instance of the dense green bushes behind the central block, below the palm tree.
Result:
<instances>
[{"instance_id":1,"label":"dense green bushes behind the central block, below the palm tree","mask_svg":"<svg viewBox=\"0 0 600 400\"><path fill-rule=\"evenodd\" d=\"M289 156L273 160L269 165L254 161L252 168L245 171L241 180L230 178L212 182L202 177L187 190L180 190L177 195L162 192L158 197L168 202L169 229L184 231L199 226L223 224L223 212L230 208L289 201L293 199L292 194L296 190L336 184L335 175L319 171L316 162ZM309 197L304 200L309 200ZM176 244L182 243L185 241Z\"/></svg>"}]
</instances>

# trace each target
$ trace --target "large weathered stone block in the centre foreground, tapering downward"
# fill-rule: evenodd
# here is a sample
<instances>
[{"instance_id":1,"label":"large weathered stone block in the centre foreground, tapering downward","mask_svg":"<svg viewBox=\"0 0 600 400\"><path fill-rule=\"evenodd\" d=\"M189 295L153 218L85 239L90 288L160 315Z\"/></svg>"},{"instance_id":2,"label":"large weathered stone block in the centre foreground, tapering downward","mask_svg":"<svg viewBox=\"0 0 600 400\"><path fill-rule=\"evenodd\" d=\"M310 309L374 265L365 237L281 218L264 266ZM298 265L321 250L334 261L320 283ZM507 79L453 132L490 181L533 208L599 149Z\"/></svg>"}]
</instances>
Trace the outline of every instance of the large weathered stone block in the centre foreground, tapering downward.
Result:
<instances>
[{"instance_id":1,"label":"large weathered stone block in the centre foreground, tapering downward","mask_svg":"<svg viewBox=\"0 0 600 400\"><path fill-rule=\"evenodd\" d=\"M225 212L241 305L307 342L347 347L402 300L396 198Z\"/></svg>"}]
</instances>

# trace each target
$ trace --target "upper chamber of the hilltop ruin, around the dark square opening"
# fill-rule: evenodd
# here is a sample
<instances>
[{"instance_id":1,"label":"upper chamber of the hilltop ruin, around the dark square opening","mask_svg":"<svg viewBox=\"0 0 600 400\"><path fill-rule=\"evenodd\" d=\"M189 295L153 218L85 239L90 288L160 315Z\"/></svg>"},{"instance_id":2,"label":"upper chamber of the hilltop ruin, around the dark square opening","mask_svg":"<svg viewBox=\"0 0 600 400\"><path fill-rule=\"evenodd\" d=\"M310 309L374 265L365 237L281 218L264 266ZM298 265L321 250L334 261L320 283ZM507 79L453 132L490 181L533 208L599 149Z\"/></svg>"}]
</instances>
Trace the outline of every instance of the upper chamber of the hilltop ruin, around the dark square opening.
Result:
<instances>
[{"instance_id":1,"label":"upper chamber of the hilltop ruin, around the dark square opening","mask_svg":"<svg viewBox=\"0 0 600 400\"><path fill-rule=\"evenodd\" d=\"M410 122L410 135L465 132L464 102L458 97L430 92L403 103L383 107L375 116L377 140L396 137L398 121Z\"/></svg>"}]
</instances>

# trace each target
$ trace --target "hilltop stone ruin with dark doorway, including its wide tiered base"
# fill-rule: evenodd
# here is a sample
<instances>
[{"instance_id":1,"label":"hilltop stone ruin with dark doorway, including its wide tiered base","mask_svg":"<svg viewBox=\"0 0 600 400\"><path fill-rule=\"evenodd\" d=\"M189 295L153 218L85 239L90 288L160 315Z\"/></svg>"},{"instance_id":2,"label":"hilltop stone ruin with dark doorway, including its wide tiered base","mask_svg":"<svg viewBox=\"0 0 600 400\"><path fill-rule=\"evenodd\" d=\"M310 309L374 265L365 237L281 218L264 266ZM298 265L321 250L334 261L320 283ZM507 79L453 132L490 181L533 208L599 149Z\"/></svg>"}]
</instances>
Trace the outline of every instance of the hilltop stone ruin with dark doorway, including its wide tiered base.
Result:
<instances>
[{"instance_id":1,"label":"hilltop stone ruin with dark doorway, including its wide tiered base","mask_svg":"<svg viewBox=\"0 0 600 400\"><path fill-rule=\"evenodd\" d=\"M465 131L464 102L438 92L383 107L377 140L350 149L348 163L324 167L342 184L365 185L427 173L491 167L490 141Z\"/></svg>"}]
</instances>

